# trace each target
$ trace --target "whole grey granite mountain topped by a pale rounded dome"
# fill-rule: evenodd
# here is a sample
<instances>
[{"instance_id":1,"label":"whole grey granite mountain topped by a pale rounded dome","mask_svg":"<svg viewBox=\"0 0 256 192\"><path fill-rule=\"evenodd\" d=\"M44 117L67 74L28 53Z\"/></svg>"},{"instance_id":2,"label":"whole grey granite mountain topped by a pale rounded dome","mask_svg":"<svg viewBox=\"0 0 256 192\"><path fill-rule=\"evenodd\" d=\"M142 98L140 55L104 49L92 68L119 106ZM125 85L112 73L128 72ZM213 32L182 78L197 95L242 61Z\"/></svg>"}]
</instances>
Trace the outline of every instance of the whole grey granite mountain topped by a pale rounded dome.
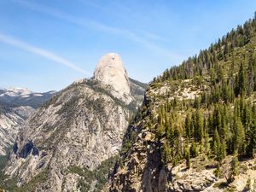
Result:
<instances>
[{"instance_id":1,"label":"whole grey granite mountain topped by a pale rounded dome","mask_svg":"<svg viewBox=\"0 0 256 192\"><path fill-rule=\"evenodd\" d=\"M96 67L93 79L81 80L61 90L26 120L5 168L5 173L16 179L18 190L100 188L100 181L91 179L95 174L92 172L118 153L128 121L143 99L143 87L136 81L129 82L122 66L118 66L122 75L108 67L108 57L104 56L107 59ZM121 63L119 55L114 59L119 60L117 65ZM124 85L129 87L119 87L113 75L125 78ZM115 95L120 89L124 94Z\"/></svg>"}]
</instances>

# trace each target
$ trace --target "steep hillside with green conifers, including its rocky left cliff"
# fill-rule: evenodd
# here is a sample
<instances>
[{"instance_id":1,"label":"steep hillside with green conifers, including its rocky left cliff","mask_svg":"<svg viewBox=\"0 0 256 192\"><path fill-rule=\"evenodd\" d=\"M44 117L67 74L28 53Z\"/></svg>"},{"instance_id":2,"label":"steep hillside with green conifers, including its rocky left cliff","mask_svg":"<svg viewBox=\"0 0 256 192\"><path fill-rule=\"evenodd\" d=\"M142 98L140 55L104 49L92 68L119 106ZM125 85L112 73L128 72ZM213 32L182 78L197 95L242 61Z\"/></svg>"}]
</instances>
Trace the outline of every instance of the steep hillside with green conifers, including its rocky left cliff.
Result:
<instances>
[{"instance_id":1,"label":"steep hillside with green conifers, including its rocky left cliff","mask_svg":"<svg viewBox=\"0 0 256 192\"><path fill-rule=\"evenodd\" d=\"M111 191L256 189L255 50L256 15L155 78Z\"/></svg>"}]
</instances>

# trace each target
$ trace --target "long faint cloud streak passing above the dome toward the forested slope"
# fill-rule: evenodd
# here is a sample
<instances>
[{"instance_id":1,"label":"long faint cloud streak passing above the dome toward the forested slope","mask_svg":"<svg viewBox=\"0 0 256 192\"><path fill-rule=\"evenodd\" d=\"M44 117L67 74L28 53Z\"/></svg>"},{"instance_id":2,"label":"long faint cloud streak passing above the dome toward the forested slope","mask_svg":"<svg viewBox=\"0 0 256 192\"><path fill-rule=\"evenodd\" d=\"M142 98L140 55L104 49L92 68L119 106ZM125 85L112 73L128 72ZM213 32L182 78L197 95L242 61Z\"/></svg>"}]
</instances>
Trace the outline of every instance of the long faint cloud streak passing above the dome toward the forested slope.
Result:
<instances>
[{"instance_id":1,"label":"long faint cloud streak passing above the dome toward the forested slope","mask_svg":"<svg viewBox=\"0 0 256 192\"><path fill-rule=\"evenodd\" d=\"M154 39L154 40L160 40L160 37L151 33L139 35L137 32L133 32L131 30L127 30L121 27L115 27L115 26L108 26L105 25L99 21L96 20L90 20L88 18L78 18L73 15L68 15L66 13L63 13L59 10L52 9L43 5L39 5L37 3L31 3L26 0L13 0L15 3L20 3L23 6L26 6L28 9L32 9L35 11L38 11L45 15L50 15L55 18L66 20L67 22L72 23L73 25L86 27L86 28L92 28L100 32L108 32L115 35L120 35L125 38L130 39L133 42L136 42L137 44L142 45L146 49L149 49L154 54L163 55L166 56L171 61L182 61L183 56L177 55L172 50L165 49L158 44L153 43L148 38ZM148 37L148 38L147 38ZM163 39L161 39L163 40Z\"/></svg>"}]
</instances>

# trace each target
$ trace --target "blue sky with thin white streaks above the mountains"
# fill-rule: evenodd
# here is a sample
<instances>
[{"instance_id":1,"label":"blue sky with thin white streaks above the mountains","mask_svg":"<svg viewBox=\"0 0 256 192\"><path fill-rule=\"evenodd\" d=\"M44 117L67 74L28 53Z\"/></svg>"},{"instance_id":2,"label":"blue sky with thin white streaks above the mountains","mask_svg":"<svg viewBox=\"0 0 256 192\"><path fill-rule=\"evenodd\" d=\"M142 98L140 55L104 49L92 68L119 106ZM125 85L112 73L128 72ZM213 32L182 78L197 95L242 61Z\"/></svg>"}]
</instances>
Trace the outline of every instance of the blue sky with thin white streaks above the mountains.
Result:
<instances>
[{"instance_id":1,"label":"blue sky with thin white streaks above the mountains","mask_svg":"<svg viewBox=\"0 0 256 192\"><path fill-rule=\"evenodd\" d=\"M255 10L255 0L0 0L0 87L61 90L108 52L148 82Z\"/></svg>"}]
</instances>

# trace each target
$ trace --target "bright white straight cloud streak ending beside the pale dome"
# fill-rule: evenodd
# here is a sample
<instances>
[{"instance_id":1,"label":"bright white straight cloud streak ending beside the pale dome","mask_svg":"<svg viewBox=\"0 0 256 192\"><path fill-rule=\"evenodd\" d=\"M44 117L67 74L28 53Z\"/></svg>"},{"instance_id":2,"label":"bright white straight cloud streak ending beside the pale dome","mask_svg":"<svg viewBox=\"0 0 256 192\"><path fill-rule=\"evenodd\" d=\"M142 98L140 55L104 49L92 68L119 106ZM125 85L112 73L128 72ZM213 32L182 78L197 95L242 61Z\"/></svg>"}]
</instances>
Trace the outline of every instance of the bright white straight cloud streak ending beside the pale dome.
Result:
<instances>
[{"instance_id":1,"label":"bright white straight cloud streak ending beside the pale dome","mask_svg":"<svg viewBox=\"0 0 256 192\"><path fill-rule=\"evenodd\" d=\"M62 66L69 67L79 73L84 73L85 75L90 75L90 73L84 71L84 69L78 67L73 62L68 61L67 59L61 57L60 55L55 55L54 53L50 52L46 49L41 49L36 46L33 46L32 44L27 44L26 42L20 41L16 38L4 35L0 33L0 42L4 44L9 44L13 47L16 47L18 49L26 50L27 52L30 52L35 55L40 55L50 61L54 61L55 63L61 64Z\"/></svg>"}]
</instances>

